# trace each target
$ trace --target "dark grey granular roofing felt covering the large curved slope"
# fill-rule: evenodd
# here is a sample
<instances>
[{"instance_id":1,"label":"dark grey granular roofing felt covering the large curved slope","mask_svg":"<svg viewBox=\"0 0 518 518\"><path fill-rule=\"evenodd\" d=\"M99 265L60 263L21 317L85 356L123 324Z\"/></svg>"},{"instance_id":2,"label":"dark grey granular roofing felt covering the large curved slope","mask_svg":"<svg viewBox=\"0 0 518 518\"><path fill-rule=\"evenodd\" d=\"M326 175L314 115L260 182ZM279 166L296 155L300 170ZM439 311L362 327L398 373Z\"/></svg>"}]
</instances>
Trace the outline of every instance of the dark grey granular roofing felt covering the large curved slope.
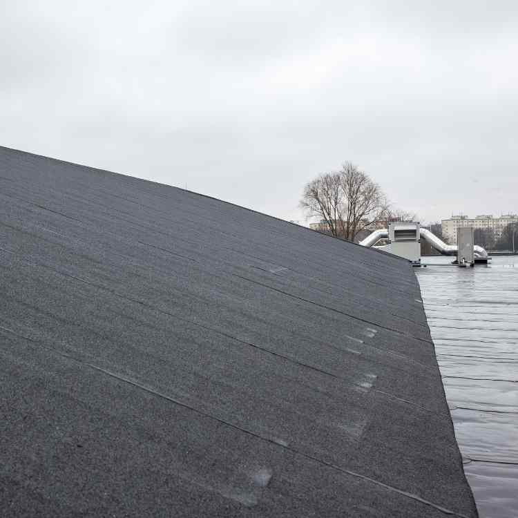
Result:
<instances>
[{"instance_id":1,"label":"dark grey granular roofing felt covering the large curved slope","mask_svg":"<svg viewBox=\"0 0 518 518\"><path fill-rule=\"evenodd\" d=\"M0 148L0 515L476 516L404 260Z\"/></svg>"}]
</instances>

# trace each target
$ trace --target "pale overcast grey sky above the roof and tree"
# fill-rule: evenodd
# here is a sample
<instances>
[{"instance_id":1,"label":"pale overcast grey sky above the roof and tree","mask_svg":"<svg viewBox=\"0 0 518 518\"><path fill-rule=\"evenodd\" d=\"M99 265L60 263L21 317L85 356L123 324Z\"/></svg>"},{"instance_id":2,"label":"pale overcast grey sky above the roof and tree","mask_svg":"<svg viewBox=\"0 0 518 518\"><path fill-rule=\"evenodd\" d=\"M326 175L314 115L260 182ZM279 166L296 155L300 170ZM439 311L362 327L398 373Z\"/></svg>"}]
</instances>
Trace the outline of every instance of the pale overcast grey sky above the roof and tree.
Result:
<instances>
[{"instance_id":1,"label":"pale overcast grey sky above the roof and tree","mask_svg":"<svg viewBox=\"0 0 518 518\"><path fill-rule=\"evenodd\" d=\"M0 145L288 220L345 160L421 221L518 212L516 0L0 7Z\"/></svg>"}]
</instances>

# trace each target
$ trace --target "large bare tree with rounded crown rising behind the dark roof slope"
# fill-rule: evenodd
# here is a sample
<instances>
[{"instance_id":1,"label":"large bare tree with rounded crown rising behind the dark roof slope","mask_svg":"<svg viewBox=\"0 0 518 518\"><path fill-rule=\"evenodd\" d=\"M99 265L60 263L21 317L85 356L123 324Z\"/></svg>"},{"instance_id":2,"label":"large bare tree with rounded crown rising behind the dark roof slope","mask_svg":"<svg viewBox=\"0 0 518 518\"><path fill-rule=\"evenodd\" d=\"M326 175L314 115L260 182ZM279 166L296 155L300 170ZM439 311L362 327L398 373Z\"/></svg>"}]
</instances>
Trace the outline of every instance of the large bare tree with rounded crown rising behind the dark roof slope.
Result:
<instances>
[{"instance_id":1,"label":"large bare tree with rounded crown rising behind the dark roof slope","mask_svg":"<svg viewBox=\"0 0 518 518\"><path fill-rule=\"evenodd\" d=\"M300 206L308 215L318 215L333 236L351 241L385 220L388 208L378 184L350 162L306 184Z\"/></svg>"}]
</instances>

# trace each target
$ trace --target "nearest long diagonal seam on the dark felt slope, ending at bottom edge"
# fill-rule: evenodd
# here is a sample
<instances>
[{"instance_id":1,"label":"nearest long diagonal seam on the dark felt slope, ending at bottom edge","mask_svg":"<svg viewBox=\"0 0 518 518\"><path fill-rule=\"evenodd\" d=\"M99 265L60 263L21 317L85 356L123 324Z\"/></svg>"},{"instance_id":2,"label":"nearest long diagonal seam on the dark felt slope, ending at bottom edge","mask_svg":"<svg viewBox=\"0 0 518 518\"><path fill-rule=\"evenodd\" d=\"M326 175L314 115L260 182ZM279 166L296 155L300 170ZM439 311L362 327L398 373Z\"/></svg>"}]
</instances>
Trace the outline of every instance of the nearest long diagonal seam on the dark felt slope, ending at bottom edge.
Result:
<instances>
[{"instance_id":1,"label":"nearest long diagonal seam on the dark felt slope, ending at bottom edge","mask_svg":"<svg viewBox=\"0 0 518 518\"><path fill-rule=\"evenodd\" d=\"M361 473L358 473L358 472L355 472L355 471L352 471L352 470L346 470L345 468L340 468L340 466L336 466L336 464L334 464L334 463L324 461L323 459L319 459L318 457L314 457L313 455L310 455L310 454L307 454L307 453L302 452L300 450L297 450L296 448L292 448L291 446L287 445L287 443L284 443L284 441L279 441L278 439L273 439L273 438L270 438L270 437L263 437L262 435L260 435L260 434L258 434L256 432L252 432L251 430L247 430L246 428L241 428L240 426L235 425L235 424L233 424L233 423L231 423L229 421L225 421L224 419L221 419L221 418L219 418L217 416L214 416L214 415L209 414L207 412L203 412L202 410L199 410L196 407L193 407L191 405L183 403L182 401L179 401L178 399L174 399L171 396L163 394L162 392L158 392L157 390L154 390L151 387L147 387L146 385L138 383L137 381L134 381L131 378L126 378L125 376L121 376L120 374L116 374L115 372L111 372L110 370L106 370L106 369L104 369L102 367L98 367L97 365L94 365L93 363L82 361L82 360L79 360L78 358L75 358L74 356L71 356L70 354L66 354L64 352L57 351L57 349L54 349L53 347L49 347L48 345L45 345L44 343L41 343L41 341L39 341L39 340L32 340L32 338L27 338L25 336L21 336L21 335L13 332L11 329L8 329L6 327L1 327L0 326L0 328L1 329L6 329L7 331L12 332L12 334L15 334L15 336L20 336L21 338L24 338L24 339L26 339L26 340L28 340L28 341L30 341L32 343L39 343L45 349L48 349L49 351L51 351L51 352L53 352L55 354L58 354L59 356L63 356L64 358L67 358L68 360L71 360L71 361L73 361L75 363L78 363L79 365L84 365L86 367L90 367L90 369L95 370L97 372L102 372L103 374L106 374L107 376L111 376L112 378L115 378L115 379L117 379L119 381L122 381L124 383L128 383L128 385L132 385L133 387L137 387L140 390L144 390L145 392L148 392L149 394L153 394L155 396L158 396L158 397L160 397L162 399L165 399L166 401L171 401L171 403L174 403L175 405L179 405L179 406L184 407L184 408L186 408L188 410L191 410L192 412L195 412L197 414L205 416L205 417L207 417L209 419L213 419L214 421L218 421L219 423L222 423L222 424L227 425L227 426L229 426L231 428L234 428L235 430L238 430L238 431L240 431L242 433L249 434L249 435L251 435L253 437L256 437L257 439L260 439L261 441L267 441L267 442L269 442L271 444L275 444L277 446L280 446L281 448L285 448L286 450L289 450L289 451L293 452L294 454L300 455L301 457L305 457L306 459L310 459L312 461L315 461L315 462L317 462L319 464L322 464L323 466L327 466L328 468L332 468L332 469L334 469L336 471L339 471L339 472L342 472L342 473L345 473L345 474L349 474L352 477L356 477L358 479L362 479L362 480L365 480L367 482L373 483L376 486L380 486L381 488L385 488L386 490L389 490L389 491L392 491L392 492L396 492L397 494L399 494L399 495L401 495L403 497L410 498L412 500L415 500L415 501L418 501L420 503L423 503L426 506L430 506L430 507L432 507L434 509L437 509L437 510L443 512L445 515L456 516L456 517L459 517L459 518L470 518L467 515L463 515L463 514L460 514L458 512L454 512L454 511L452 511L452 510L450 510L448 508L445 508L443 506L440 506L439 504L434 503L434 502L432 502L430 500L421 498L421 497L419 497L419 495L414 495L413 493L401 490L401 489L396 488L394 486L390 486L388 484L385 484L385 483L383 483L381 481L378 481L376 479L373 479L371 477L367 477L367 475L363 475Z\"/></svg>"}]
</instances>

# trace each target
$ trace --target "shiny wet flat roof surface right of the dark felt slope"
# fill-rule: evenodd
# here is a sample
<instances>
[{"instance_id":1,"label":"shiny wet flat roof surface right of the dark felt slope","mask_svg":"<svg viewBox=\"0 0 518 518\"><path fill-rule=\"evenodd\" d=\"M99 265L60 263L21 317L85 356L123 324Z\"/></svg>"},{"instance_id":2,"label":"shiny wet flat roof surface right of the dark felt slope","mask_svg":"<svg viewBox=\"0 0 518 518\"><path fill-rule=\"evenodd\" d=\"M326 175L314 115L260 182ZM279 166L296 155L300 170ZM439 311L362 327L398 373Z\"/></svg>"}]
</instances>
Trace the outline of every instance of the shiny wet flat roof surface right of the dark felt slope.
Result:
<instances>
[{"instance_id":1,"label":"shiny wet flat roof surface right of the dark felt slope","mask_svg":"<svg viewBox=\"0 0 518 518\"><path fill-rule=\"evenodd\" d=\"M417 271L481 518L518 515L518 256ZM435 263L435 264L434 264Z\"/></svg>"}]
</instances>

